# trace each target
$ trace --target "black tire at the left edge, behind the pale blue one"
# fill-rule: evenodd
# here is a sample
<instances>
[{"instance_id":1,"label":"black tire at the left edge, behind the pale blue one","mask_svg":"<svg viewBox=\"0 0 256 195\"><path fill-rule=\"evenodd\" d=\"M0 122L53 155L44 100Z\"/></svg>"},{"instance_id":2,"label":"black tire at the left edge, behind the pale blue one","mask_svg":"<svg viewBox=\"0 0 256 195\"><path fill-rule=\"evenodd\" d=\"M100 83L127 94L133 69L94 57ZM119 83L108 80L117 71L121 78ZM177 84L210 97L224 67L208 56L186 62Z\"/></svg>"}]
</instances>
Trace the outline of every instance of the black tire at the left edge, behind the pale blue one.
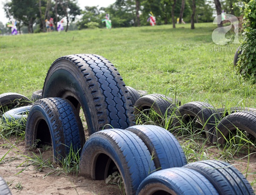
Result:
<instances>
[{"instance_id":1,"label":"black tire at the left edge, behind the pale blue one","mask_svg":"<svg viewBox=\"0 0 256 195\"><path fill-rule=\"evenodd\" d=\"M0 114L7 112L15 107L22 107L32 102L19 93L2 93L0 94Z\"/></svg>"}]
</instances>

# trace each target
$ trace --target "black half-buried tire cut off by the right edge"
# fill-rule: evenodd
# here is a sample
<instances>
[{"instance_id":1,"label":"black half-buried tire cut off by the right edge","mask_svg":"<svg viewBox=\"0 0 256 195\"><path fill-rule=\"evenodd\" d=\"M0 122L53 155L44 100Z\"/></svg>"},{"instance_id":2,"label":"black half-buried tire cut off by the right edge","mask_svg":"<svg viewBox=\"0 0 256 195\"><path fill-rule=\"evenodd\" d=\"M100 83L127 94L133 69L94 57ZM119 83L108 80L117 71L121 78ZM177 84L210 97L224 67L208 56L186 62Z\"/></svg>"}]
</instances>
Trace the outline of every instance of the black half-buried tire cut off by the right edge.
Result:
<instances>
[{"instance_id":1,"label":"black half-buried tire cut off by the right edge","mask_svg":"<svg viewBox=\"0 0 256 195\"><path fill-rule=\"evenodd\" d=\"M251 111L236 112L221 119L215 129L213 143L225 144L225 138L228 138L230 132L237 129L246 131L256 138L256 113Z\"/></svg>"}]
</instances>

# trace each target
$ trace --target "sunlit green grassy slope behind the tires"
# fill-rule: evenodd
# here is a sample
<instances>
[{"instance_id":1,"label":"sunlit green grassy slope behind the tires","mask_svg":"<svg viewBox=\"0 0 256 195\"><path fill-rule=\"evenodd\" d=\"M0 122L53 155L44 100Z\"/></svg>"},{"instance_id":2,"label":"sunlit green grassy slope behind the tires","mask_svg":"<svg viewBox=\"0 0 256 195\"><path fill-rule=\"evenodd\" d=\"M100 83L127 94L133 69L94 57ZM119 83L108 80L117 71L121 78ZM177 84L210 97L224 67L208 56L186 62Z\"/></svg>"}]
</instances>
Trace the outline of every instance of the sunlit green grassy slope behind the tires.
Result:
<instances>
[{"instance_id":1,"label":"sunlit green grassy slope behind the tires","mask_svg":"<svg viewBox=\"0 0 256 195\"><path fill-rule=\"evenodd\" d=\"M99 54L126 85L175 97L182 104L256 107L256 87L233 70L233 51L212 52L211 23L23 34L0 37L0 93L28 97L41 89L49 66L69 54Z\"/></svg>"}]
</instances>

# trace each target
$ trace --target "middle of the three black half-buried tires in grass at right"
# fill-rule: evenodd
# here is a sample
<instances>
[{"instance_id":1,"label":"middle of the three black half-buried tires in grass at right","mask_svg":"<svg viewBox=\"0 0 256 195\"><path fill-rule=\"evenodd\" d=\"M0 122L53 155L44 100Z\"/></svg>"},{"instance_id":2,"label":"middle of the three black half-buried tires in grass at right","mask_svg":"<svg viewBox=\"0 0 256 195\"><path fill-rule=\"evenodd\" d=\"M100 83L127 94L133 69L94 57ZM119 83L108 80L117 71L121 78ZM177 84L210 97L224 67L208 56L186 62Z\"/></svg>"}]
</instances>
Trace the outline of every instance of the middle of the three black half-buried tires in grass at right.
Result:
<instances>
[{"instance_id":1,"label":"middle of the three black half-buried tires in grass at right","mask_svg":"<svg viewBox=\"0 0 256 195\"><path fill-rule=\"evenodd\" d=\"M191 120L198 120L200 122L198 128L204 128L206 137L210 142L212 142L213 131L221 120L215 108L206 102L186 103L177 109L176 116L177 118L174 119L172 124L174 128L181 127L181 123L186 124Z\"/></svg>"}]
</instances>

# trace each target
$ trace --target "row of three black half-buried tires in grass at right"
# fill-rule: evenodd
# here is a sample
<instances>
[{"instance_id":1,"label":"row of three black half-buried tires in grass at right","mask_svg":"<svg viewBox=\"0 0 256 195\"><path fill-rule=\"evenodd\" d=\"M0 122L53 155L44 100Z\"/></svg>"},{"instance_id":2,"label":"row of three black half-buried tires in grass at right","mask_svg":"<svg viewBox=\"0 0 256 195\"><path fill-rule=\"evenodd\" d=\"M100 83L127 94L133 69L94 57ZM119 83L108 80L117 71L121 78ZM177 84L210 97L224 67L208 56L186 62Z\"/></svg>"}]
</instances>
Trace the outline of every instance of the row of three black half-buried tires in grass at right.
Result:
<instances>
[{"instance_id":1,"label":"row of three black half-buried tires in grass at right","mask_svg":"<svg viewBox=\"0 0 256 195\"><path fill-rule=\"evenodd\" d=\"M227 138L237 131L246 131L249 138L256 138L256 109L250 107L231 107L215 109L206 102L180 102L161 94L147 94L134 103L135 116L141 118L154 110L158 122L172 117L172 131L185 128L194 122L197 129L203 129L211 143L225 144Z\"/></svg>"}]
</instances>

